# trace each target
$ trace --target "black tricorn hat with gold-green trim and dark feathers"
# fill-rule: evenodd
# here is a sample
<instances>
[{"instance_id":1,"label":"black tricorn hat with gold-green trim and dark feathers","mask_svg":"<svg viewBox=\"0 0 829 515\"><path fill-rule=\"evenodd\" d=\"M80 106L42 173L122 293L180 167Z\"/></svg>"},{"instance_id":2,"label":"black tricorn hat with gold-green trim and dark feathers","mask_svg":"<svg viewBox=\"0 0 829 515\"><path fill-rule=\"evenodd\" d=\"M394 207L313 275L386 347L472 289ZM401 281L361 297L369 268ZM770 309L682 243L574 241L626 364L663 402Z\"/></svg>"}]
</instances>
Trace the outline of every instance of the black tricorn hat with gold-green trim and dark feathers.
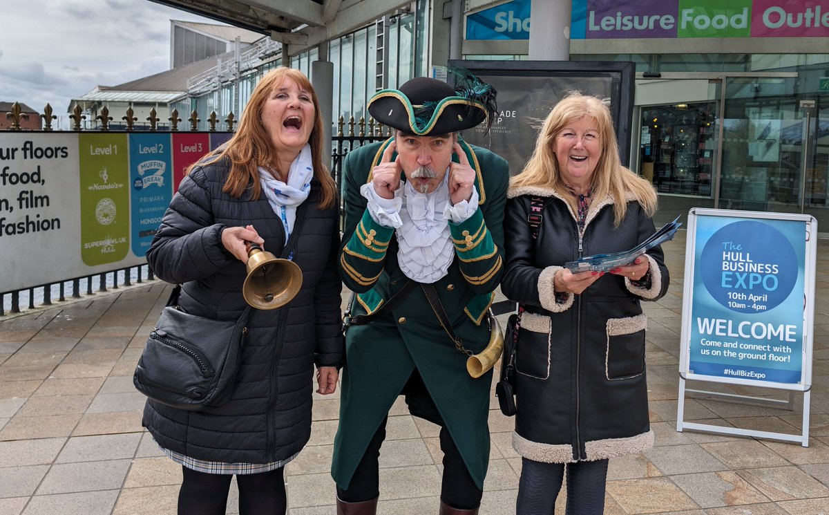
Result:
<instances>
[{"instance_id":1,"label":"black tricorn hat with gold-green trim and dark feathers","mask_svg":"<svg viewBox=\"0 0 829 515\"><path fill-rule=\"evenodd\" d=\"M488 128L495 112L495 88L468 72L460 76L458 90L442 80L416 77L400 90L377 91L368 112L381 124L415 136L472 129L483 121Z\"/></svg>"}]
</instances>

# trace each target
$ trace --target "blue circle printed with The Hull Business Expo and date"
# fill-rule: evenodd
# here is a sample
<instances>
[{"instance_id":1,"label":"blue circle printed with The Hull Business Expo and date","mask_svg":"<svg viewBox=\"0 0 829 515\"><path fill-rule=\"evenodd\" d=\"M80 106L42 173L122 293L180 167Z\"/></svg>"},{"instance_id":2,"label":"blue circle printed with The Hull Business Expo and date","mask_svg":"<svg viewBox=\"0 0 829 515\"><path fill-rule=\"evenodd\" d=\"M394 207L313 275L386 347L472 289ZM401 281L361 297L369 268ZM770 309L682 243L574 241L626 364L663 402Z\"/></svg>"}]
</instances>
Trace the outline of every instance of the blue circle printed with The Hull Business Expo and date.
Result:
<instances>
[{"instance_id":1,"label":"blue circle printed with The Hull Business Expo and date","mask_svg":"<svg viewBox=\"0 0 829 515\"><path fill-rule=\"evenodd\" d=\"M735 221L702 249L702 282L718 303L739 313L776 308L797 282L797 255L786 236L759 221Z\"/></svg>"}]
</instances>

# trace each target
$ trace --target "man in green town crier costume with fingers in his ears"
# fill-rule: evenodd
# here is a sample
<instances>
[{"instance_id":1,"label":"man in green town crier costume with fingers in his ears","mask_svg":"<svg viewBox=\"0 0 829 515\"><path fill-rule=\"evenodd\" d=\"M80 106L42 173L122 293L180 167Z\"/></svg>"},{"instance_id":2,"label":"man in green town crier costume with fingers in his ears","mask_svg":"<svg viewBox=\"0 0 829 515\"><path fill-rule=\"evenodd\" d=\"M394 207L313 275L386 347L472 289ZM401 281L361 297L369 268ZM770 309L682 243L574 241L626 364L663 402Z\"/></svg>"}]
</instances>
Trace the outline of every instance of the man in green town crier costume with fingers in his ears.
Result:
<instances>
[{"instance_id":1,"label":"man in green town crier costume with fingers in his ears","mask_svg":"<svg viewBox=\"0 0 829 515\"><path fill-rule=\"evenodd\" d=\"M395 134L343 164L339 265L356 295L332 461L342 515L376 513L378 455L400 395L412 415L440 426L439 513L474 514L481 503L492 372L474 379L466 360L489 341L509 171L459 138L495 111L492 86L459 75L457 90L416 78L378 91L368 110Z\"/></svg>"}]
</instances>

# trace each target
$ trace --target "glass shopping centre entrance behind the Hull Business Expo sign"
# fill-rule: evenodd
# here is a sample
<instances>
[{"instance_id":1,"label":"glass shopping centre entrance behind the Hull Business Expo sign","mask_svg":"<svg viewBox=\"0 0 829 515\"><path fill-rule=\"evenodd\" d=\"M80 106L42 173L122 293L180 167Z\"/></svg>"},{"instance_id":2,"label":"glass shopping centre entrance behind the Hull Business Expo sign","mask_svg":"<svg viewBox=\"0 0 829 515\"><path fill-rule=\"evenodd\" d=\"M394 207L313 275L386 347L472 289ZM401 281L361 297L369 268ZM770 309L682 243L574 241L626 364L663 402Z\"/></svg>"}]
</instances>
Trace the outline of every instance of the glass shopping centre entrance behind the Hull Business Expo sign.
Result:
<instances>
[{"instance_id":1,"label":"glass shopping centre entrance behind the Hull Business Expo sign","mask_svg":"<svg viewBox=\"0 0 829 515\"><path fill-rule=\"evenodd\" d=\"M808 213L829 236L821 73L638 80L631 166L659 192L657 224L695 206Z\"/></svg>"}]
</instances>

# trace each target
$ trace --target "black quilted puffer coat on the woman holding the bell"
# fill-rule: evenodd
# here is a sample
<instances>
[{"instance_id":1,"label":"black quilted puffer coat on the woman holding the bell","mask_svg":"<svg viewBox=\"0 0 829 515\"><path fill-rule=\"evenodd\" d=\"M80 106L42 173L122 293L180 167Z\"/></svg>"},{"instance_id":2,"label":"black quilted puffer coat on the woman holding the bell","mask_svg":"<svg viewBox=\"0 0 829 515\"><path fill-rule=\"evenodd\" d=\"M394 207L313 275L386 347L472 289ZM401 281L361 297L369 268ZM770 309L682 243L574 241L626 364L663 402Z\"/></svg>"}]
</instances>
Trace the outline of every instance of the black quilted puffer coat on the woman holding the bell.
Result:
<instances>
[{"instance_id":1,"label":"black quilted puffer coat on the woman holding the bell","mask_svg":"<svg viewBox=\"0 0 829 515\"><path fill-rule=\"evenodd\" d=\"M293 250L302 289L282 308L253 314L230 401L197 412L148 401L143 425L159 445L192 458L264 464L287 459L308 442L313 365L342 360L338 213L336 203L319 208L314 180L286 246L264 194L250 201L221 191L229 169L221 161L184 178L147 252L149 265L159 278L182 284L178 304L187 313L238 318L246 307L245 265L221 245L221 231L250 224L265 250L277 257Z\"/></svg>"}]
</instances>

